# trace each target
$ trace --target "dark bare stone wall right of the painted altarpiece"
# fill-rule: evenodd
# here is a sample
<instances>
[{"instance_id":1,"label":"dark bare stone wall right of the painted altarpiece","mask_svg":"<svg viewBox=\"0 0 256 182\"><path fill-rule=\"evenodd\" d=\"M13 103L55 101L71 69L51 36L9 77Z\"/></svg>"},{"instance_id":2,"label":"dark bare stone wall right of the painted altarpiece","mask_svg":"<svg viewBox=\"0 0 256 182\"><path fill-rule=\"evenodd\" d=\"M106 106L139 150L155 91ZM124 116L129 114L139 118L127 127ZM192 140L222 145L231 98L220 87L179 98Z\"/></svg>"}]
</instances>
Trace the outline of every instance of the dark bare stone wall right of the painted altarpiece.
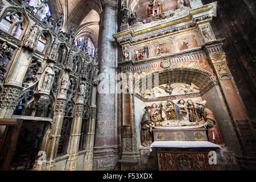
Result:
<instances>
[{"instance_id":1,"label":"dark bare stone wall right of the painted altarpiece","mask_svg":"<svg viewBox=\"0 0 256 182\"><path fill-rule=\"evenodd\" d=\"M215 0L204 0L204 5ZM255 1L218 0L212 28L217 39L225 38L224 50L230 72L241 94L247 114L256 128L256 20Z\"/></svg>"}]
</instances>

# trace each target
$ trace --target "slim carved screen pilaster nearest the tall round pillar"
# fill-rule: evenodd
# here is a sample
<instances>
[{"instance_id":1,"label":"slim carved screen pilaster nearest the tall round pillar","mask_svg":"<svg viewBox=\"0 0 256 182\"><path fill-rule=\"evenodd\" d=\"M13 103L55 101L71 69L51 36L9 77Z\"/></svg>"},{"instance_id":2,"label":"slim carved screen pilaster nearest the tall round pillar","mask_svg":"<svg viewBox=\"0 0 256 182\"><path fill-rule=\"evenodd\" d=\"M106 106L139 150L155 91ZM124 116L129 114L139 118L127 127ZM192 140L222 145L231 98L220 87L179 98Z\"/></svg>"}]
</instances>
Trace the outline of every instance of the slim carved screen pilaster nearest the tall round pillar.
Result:
<instances>
[{"instance_id":1,"label":"slim carved screen pilaster nearest the tall round pillar","mask_svg":"<svg viewBox=\"0 0 256 182\"><path fill-rule=\"evenodd\" d=\"M86 134L86 148L84 156L84 170L92 171L93 169L93 146L95 136L95 123L96 123L96 107L90 107L89 125Z\"/></svg>"}]
</instances>

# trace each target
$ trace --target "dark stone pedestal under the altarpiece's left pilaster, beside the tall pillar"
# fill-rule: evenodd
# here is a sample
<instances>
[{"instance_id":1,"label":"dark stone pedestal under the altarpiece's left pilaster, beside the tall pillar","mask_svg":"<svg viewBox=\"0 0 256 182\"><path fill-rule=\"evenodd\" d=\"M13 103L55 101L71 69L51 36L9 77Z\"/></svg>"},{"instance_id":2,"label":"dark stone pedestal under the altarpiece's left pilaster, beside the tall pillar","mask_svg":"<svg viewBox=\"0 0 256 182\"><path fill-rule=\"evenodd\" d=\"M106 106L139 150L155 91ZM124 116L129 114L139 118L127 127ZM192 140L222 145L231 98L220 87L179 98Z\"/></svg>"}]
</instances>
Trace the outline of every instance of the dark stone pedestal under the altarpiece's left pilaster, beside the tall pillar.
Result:
<instances>
[{"instance_id":1,"label":"dark stone pedestal under the altarpiece's left pilaster, beside the tall pillar","mask_svg":"<svg viewBox=\"0 0 256 182\"><path fill-rule=\"evenodd\" d=\"M134 152L123 152L121 160L121 171L139 171L141 170L141 156Z\"/></svg>"}]
</instances>

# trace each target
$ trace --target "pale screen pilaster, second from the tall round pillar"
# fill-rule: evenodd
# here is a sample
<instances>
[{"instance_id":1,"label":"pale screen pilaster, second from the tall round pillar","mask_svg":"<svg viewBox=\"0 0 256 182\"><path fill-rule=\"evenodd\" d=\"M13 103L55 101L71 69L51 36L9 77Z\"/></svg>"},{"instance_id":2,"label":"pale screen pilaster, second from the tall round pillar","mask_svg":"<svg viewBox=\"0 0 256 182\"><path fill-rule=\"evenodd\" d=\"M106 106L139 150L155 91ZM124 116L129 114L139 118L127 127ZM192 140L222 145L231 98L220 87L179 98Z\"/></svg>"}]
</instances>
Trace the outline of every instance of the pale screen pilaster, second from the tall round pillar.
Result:
<instances>
[{"instance_id":1,"label":"pale screen pilaster, second from the tall round pillar","mask_svg":"<svg viewBox=\"0 0 256 182\"><path fill-rule=\"evenodd\" d=\"M84 105L78 103L76 105L76 114L73 118L71 126L71 135L68 144L68 160L66 163L66 171L75 171L77 167L77 157L79 152L79 140L81 135L82 116L84 115Z\"/></svg>"}]
</instances>

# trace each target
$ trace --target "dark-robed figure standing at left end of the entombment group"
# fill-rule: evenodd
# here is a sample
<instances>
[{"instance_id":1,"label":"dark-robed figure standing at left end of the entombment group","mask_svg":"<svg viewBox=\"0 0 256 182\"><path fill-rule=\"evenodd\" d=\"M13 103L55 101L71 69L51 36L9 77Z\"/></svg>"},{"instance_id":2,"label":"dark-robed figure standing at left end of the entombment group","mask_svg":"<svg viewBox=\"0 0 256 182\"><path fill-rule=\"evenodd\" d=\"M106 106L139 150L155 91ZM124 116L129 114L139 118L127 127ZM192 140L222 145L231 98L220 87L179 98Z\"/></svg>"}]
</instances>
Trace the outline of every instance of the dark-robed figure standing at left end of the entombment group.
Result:
<instances>
[{"instance_id":1,"label":"dark-robed figure standing at left end of the entombment group","mask_svg":"<svg viewBox=\"0 0 256 182\"><path fill-rule=\"evenodd\" d=\"M144 147L150 146L152 143L152 126L154 126L154 123L151 121L150 118L150 106L144 107L145 112L142 116L142 121L141 121L141 145Z\"/></svg>"}]
</instances>

